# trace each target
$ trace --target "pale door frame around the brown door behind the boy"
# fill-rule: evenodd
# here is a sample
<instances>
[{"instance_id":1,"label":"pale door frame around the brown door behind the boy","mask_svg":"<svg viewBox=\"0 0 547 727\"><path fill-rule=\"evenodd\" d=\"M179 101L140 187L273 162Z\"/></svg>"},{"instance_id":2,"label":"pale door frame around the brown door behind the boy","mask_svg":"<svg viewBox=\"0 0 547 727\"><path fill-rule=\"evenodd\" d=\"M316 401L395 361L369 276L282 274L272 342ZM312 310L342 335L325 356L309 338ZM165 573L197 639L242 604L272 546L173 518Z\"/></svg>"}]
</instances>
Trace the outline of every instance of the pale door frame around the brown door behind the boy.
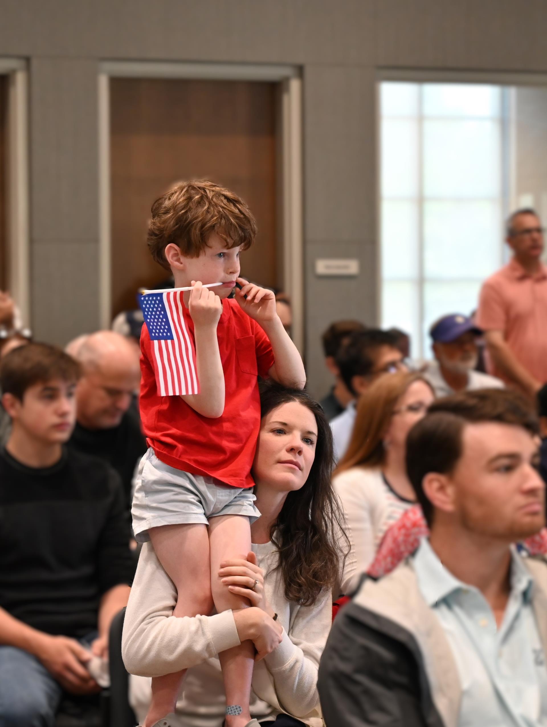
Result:
<instances>
[{"instance_id":1,"label":"pale door frame around the brown door behind the boy","mask_svg":"<svg viewBox=\"0 0 547 727\"><path fill-rule=\"evenodd\" d=\"M103 61L99 93L99 201L100 201L100 324L111 325L111 182L110 79L208 79L216 81L273 81L281 84L281 169L283 280L292 305L292 338L303 353L303 158L302 81L293 65L246 63L156 63Z\"/></svg>"}]
</instances>

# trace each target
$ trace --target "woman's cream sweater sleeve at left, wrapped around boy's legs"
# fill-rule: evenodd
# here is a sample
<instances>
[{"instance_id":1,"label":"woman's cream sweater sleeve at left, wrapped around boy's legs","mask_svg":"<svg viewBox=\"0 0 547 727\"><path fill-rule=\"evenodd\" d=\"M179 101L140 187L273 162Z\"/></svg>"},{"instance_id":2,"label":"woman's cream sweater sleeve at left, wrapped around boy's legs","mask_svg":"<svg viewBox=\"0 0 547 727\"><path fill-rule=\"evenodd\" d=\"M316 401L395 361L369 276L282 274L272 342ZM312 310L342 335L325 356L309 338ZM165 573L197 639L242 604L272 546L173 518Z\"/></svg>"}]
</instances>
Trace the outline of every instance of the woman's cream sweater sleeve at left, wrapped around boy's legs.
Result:
<instances>
[{"instance_id":1,"label":"woman's cream sweater sleeve at left, wrapped around boy's legs","mask_svg":"<svg viewBox=\"0 0 547 727\"><path fill-rule=\"evenodd\" d=\"M140 552L124 620L121 653L127 671L143 677L171 674L239 646L231 611L172 616L177 590L150 543Z\"/></svg>"}]
</instances>

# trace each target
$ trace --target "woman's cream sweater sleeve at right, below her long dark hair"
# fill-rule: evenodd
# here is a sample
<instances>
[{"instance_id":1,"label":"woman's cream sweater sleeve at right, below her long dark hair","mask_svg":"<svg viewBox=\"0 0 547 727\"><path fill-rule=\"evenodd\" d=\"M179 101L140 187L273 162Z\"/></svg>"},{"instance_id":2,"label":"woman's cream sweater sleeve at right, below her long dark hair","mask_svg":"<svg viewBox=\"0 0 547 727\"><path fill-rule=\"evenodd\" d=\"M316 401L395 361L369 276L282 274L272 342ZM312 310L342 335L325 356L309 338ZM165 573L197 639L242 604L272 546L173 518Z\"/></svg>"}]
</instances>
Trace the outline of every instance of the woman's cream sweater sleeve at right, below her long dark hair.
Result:
<instances>
[{"instance_id":1,"label":"woman's cream sweater sleeve at right, below her long dark hair","mask_svg":"<svg viewBox=\"0 0 547 727\"><path fill-rule=\"evenodd\" d=\"M282 643L265 656L279 705L296 718L319 710L317 672L331 623L329 592L314 606L300 606L292 619L289 634L284 631Z\"/></svg>"}]
</instances>

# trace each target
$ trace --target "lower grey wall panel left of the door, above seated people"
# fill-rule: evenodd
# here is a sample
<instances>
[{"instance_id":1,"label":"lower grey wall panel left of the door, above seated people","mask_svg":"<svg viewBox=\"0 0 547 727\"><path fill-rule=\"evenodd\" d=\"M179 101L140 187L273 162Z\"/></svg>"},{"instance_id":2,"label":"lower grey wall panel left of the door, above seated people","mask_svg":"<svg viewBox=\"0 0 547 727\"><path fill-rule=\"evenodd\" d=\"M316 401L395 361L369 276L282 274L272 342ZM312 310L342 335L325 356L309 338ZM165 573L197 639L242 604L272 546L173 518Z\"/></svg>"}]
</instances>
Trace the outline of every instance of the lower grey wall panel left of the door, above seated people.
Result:
<instances>
[{"instance_id":1,"label":"lower grey wall panel left of the door, above seated people","mask_svg":"<svg viewBox=\"0 0 547 727\"><path fill-rule=\"evenodd\" d=\"M65 345L99 324L97 241L39 240L31 248L36 340Z\"/></svg>"}]
</instances>

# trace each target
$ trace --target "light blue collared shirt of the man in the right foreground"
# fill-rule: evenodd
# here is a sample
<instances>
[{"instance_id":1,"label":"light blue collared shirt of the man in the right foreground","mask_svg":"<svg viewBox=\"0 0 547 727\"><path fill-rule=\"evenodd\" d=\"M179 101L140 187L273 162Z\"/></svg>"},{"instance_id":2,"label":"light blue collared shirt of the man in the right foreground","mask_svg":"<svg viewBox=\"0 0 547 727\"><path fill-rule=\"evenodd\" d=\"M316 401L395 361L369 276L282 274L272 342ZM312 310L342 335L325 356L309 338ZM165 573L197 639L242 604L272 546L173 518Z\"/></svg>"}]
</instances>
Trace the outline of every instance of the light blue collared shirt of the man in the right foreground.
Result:
<instances>
[{"instance_id":1,"label":"light blue collared shirt of the man in the right foreground","mask_svg":"<svg viewBox=\"0 0 547 727\"><path fill-rule=\"evenodd\" d=\"M460 727L547 725L545 654L531 606L530 572L515 552L501 624L481 591L447 570L427 539L414 557L418 587L452 648L463 697Z\"/></svg>"}]
</instances>

